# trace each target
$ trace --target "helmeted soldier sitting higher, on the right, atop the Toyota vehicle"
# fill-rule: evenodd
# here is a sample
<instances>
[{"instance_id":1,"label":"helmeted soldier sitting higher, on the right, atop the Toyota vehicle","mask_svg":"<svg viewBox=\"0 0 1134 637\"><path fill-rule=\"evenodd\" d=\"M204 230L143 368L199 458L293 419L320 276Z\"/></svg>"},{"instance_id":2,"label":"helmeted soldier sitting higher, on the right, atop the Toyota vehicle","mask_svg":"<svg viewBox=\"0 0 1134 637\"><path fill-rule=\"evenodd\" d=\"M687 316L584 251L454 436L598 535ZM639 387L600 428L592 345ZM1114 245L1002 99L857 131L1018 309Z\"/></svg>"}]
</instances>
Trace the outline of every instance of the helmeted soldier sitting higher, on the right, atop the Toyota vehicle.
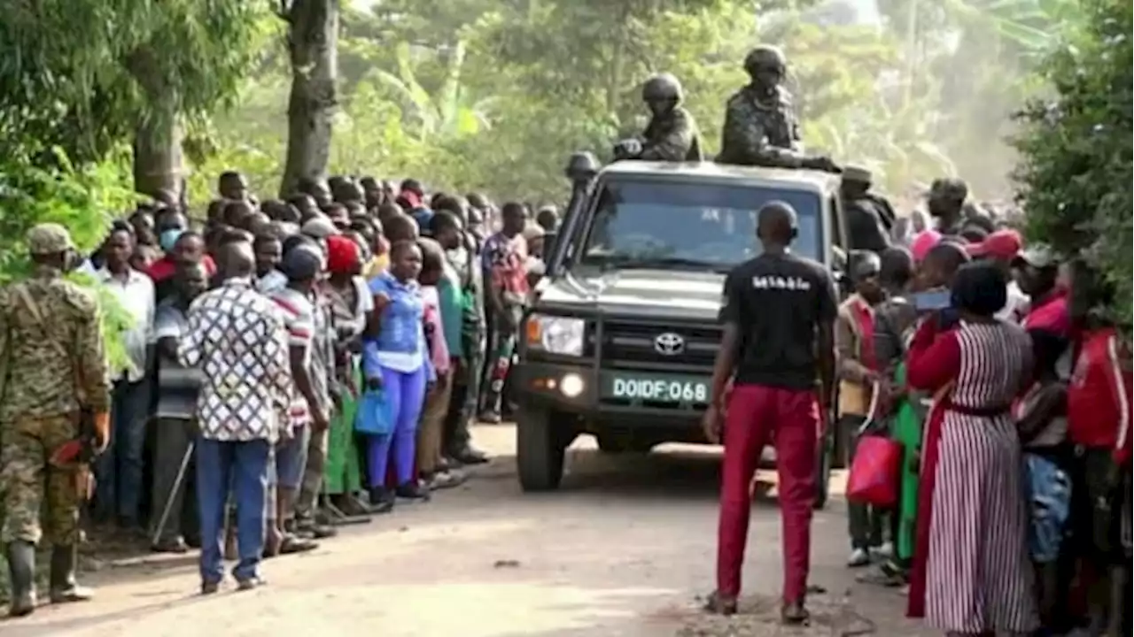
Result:
<instances>
[{"instance_id":1,"label":"helmeted soldier sitting higher, on the right, atop the Toyota vehicle","mask_svg":"<svg viewBox=\"0 0 1134 637\"><path fill-rule=\"evenodd\" d=\"M756 46L744 58L744 70L752 82L728 100L717 161L838 172L830 158L803 152L792 96L780 86L787 74L784 53L775 46Z\"/></svg>"}]
</instances>

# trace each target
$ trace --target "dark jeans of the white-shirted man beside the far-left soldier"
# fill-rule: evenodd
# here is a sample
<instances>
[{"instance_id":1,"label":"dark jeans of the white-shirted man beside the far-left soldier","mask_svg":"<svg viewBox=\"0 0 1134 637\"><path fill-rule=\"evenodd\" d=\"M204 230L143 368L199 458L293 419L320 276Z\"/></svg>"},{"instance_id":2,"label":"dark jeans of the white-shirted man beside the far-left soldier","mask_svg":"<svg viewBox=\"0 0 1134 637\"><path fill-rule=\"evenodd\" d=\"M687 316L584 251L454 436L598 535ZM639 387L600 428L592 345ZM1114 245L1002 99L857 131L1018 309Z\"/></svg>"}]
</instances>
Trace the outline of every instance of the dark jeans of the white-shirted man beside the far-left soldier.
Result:
<instances>
[{"instance_id":1,"label":"dark jeans of the white-shirted man beside the far-left soldier","mask_svg":"<svg viewBox=\"0 0 1134 637\"><path fill-rule=\"evenodd\" d=\"M110 444L95 462L94 517L125 526L138 524L145 424L150 411L150 380L115 383L110 407ZM161 515L159 511L156 515Z\"/></svg>"}]
</instances>

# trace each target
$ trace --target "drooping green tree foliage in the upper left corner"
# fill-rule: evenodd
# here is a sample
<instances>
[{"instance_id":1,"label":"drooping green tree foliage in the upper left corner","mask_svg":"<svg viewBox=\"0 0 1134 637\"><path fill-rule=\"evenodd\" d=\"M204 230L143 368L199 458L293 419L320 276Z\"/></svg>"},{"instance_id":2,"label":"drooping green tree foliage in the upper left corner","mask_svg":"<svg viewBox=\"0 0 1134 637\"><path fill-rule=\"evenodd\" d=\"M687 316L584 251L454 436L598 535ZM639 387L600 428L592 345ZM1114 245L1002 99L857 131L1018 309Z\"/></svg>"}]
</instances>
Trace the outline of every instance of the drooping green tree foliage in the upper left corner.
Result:
<instances>
[{"instance_id":1,"label":"drooping green tree foliage in the upper left corner","mask_svg":"<svg viewBox=\"0 0 1134 637\"><path fill-rule=\"evenodd\" d=\"M0 154L100 161L156 117L200 119L260 52L266 0L9 2L0 20Z\"/></svg>"}]
</instances>

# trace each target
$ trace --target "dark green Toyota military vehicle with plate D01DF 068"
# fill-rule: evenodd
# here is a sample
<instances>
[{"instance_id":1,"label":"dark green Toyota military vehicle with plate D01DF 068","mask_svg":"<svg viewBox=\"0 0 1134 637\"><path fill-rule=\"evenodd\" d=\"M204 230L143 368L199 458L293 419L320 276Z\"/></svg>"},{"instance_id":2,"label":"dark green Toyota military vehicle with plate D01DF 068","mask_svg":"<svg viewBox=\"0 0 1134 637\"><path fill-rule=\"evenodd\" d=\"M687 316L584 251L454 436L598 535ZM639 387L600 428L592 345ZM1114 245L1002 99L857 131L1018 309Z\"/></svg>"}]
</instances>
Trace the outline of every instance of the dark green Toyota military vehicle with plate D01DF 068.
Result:
<instances>
[{"instance_id":1,"label":"dark green Toyota military vehicle with plate D01DF 068","mask_svg":"<svg viewBox=\"0 0 1134 637\"><path fill-rule=\"evenodd\" d=\"M764 203L795 207L798 254L831 264L846 243L836 175L712 162L600 168L583 154L568 176L572 202L515 370L525 491L558 489L565 450L579 434L607 452L708 442L700 419L725 275L759 254ZM831 466L830 444L820 447L818 506Z\"/></svg>"}]
</instances>

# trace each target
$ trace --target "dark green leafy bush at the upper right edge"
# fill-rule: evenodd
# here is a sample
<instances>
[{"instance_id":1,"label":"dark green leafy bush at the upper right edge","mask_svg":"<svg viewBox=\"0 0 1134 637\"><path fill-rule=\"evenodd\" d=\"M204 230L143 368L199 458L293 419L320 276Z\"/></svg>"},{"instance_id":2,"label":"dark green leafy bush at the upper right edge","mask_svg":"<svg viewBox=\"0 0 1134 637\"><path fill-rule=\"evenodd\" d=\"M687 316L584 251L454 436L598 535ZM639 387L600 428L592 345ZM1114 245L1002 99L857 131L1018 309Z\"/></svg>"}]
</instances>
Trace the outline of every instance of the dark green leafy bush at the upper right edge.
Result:
<instances>
[{"instance_id":1,"label":"dark green leafy bush at the upper right edge","mask_svg":"<svg viewBox=\"0 0 1134 637\"><path fill-rule=\"evenodd\" d=\"M1084 5L1086 24L1043 69L1055 99L1023 113L1017 179L1030 233L1065 254L1090 248L1134 324L1134 5Z\"/></svg>"}]
</instances>

